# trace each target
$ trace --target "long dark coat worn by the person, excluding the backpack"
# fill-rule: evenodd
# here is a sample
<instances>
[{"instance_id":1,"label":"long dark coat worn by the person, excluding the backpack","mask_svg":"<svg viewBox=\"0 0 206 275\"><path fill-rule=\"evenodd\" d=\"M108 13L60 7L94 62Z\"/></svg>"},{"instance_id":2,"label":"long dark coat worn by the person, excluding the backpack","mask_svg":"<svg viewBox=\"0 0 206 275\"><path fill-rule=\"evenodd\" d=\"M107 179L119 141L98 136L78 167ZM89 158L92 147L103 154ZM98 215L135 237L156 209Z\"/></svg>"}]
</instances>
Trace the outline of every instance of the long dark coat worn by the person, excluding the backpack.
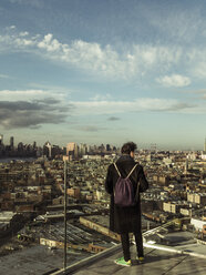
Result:
<instances>
[{"instance_id":1,"label":"long dark coat worn by the person, excluding the backpack","mask_svg":"<svg viewBox=\"0 0 206 275\"><path fill-rule=\"evenodd\" d=\"M116 165L119 171L123 177L126 177L133 166L135 165L135 161L130 155L122 155ZM107 170L106 181L105 181L105 190L109 194L111 194L111 204L110 204L110 230L121 233L130 233L130 232L141 232L141 198L138 193L138 200L136 205L120 207L114 204L114 186L117 182L119 174L114 164L111 164ZM137 183L140 182L140 192L144 192L148 189L148 182L144 175L143 167L138 164L133 171L130 180L133 184L134 192L136 193Z\"/></svg>"}]
</instances>

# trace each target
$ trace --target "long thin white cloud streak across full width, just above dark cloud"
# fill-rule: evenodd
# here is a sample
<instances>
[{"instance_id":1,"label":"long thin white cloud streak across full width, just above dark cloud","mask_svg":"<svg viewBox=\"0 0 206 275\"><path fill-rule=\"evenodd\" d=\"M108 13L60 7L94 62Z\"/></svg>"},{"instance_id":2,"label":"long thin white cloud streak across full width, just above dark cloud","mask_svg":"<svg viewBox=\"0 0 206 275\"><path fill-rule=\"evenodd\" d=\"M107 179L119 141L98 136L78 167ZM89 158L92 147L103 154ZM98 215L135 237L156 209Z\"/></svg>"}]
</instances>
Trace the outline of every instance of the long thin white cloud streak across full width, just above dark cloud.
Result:
<instances>
[{"instance_id":1,"label":"long thin white cloud streak across full width, just above dark cloud","mask_svg":"<svg viewBox=\"0 0 206 275\"><path fill-rule=\"evenodd\" d=\"M59 91L59 90L58 90ZM197 103L186 103L175 99L152 99L140 98L131 101L115 101L111 99L110 94L104 99L99 94L90 101L71 101L68 100L66 93L59 93L56 90L52 90L52 86L48 86L47 90L1 90L1 101L17 102L17 101L33 101L44 102L59 101L64 104L72 105L72 115L99 115L110 114L115 116L121 113L133 112L173 112L173 113L206 113L205 101L197 101ZM202 99L206 99L203 94ZM0 102L1 102L0 101ZM63 110L63 108L62 108ZM116 118L116 116L115 116Z\"/></svg>"}]
</instances>

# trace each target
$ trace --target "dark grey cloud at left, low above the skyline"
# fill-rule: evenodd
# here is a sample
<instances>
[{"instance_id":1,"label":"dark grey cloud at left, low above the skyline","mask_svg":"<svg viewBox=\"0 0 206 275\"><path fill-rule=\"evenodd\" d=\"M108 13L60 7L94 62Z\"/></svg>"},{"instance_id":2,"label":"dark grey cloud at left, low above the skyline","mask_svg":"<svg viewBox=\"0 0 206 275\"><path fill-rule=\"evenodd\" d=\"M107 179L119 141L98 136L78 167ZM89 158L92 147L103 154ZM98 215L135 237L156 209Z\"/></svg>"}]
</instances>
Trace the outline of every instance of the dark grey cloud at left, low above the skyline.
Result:
<instances>
[{"instance_id":1,"label":"dark grey cloud at left, low above the skyline","mask_svg":"<svg viewBox=\"0 0 206 275\"><path fill-rule=\"evenodd\" d=\"M4 129L37 129L42 124L65 121L72 105L62 106L55 99L33 101L0 101L0 125Z\"/></svg>"}]
</instances>

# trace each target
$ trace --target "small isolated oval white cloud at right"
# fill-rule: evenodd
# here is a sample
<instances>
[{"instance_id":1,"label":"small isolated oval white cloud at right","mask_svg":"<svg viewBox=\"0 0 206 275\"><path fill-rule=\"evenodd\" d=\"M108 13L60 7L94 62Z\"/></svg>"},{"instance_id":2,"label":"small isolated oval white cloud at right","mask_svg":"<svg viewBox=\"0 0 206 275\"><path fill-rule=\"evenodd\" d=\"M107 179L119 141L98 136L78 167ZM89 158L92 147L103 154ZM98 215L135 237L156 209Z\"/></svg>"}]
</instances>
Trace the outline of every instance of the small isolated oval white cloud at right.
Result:
<instances>
[{"instance_id":1,"label":"small isolated oval white cloud at right","mask_svg":"<svg viewBox=\"0 0 206 275\"><path fill-rule=\"evenodd\" d=\"M187 86L190 84L190 79L181 74L165 75L156 79L156 81L165 86Z\"/></svg>"}]
</instances>

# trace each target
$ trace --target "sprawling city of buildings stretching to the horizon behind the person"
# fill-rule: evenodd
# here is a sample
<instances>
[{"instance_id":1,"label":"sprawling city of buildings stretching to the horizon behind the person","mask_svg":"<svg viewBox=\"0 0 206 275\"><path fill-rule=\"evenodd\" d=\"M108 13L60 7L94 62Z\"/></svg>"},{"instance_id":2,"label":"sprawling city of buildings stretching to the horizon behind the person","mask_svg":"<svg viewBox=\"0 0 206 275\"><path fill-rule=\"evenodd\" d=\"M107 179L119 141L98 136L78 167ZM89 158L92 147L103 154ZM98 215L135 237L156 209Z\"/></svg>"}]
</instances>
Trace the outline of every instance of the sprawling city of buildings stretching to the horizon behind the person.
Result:
<instances>
[{"instance_id":1,"label":"sprawling city of buildings stretching to the horizon behind the person","mask_svg":"<svg viewBox=\"0 0 206 275\"><path fill-rule=\"evenodd\" d=\"M109 230L110 196L104 189L107 166L119 156L120 149L110 144L14 146L13 138L4 145L0 135L0 255L11 247L64 247L65 173L68 249L91 254L119 243L120 236ZM206 243L206 141L203 151L137 150L135 160L150 182L142 194L143 232L168 224ZM161 235L148 238L166 242Z\"/></svg>"}]
</instances>

